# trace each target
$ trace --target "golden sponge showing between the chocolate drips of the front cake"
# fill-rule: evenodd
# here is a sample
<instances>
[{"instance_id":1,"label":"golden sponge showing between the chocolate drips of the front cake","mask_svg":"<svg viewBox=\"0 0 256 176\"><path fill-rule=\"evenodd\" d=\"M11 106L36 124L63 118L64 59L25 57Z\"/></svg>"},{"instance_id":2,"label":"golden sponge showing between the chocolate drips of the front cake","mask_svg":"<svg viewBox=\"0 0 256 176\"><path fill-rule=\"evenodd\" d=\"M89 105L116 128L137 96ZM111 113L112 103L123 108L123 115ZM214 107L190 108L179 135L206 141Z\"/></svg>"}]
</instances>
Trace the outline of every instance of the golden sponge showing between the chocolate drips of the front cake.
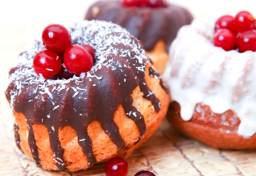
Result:
<instances>
[{"instance_id":1,"label":"golden sponge showing between the chocolate drips of the front cake","mask_svg":"<svg viewBox=\"0 0 256 176\"><path fill-rule=\"evenodd\" d=\"M115 112L113 121L119 128L119 133L124 140L124 147L120 152L116 145L110 140L108 135L103 131L101 124L93 121L87 128L87 132L92 140L92 150L97 163L105 162L111 157L124 156L129 157L132 151L138 148L145 140L147 140L153 132L158 128L163 120L169 105L169 95L161 87L160 80L149 76L148 68L151 64L148 62L146 67L145 80L146 84L152 90L156 97L161 102L161 110L157 113L152 108L151 101L143 98L143 93L139 86L133 90L132 99L133 106L137 108L143 115L146 123L146 132L142 140L140 138L140 131L132 119L128 118L124 109L119 105ZM16 123L18 126L18 133L20 135L20 146L22 151L32 158L31 151L28 145L28 125L26 118L22 113L14 113ZM36 140L36 147L38 149L41 165L47 170L57 170L56 162L54 161L53 152L50 147L49 134L47 128L42 124L32 124ZM88 168L88 162L84 155L81 146L78 144L76 131L70 126L59 128L59 140L61 148L64 150L64 163L68 171L76 171ZM137 142L139 140L139 142Z\"/></svg>"}]
</instances>

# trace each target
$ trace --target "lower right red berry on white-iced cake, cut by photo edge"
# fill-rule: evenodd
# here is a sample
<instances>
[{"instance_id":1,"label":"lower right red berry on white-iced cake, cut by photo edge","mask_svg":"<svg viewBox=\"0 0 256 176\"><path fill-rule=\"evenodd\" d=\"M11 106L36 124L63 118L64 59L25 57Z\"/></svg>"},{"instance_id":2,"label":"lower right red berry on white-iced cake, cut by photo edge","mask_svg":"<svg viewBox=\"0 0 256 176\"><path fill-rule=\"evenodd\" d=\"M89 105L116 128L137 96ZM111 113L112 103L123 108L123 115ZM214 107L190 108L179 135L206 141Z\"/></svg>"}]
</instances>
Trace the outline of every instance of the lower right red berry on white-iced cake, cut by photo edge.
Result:
<instances>
[{"instance_id":1,"label":"lower right red berry on white-iced cake, cut by photo edge","mask_svg":"<svg viewBox=\"0 0 256 176\"><path fill-rule=\"evenodd\" d=\"M256 51L256 30L244 31L237 39L237 45L241 52Z\"/></svg>"}]
</instances>

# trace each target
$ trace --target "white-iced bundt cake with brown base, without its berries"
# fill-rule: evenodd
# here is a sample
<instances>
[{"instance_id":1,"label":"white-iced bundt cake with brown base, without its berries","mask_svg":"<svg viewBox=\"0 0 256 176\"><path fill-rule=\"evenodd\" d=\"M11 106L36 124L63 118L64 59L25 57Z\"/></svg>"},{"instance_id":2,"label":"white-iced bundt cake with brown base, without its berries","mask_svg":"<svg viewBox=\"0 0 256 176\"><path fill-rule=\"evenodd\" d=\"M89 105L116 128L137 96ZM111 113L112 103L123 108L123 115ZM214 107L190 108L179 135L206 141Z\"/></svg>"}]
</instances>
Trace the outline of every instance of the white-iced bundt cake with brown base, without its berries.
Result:
<instances>
[{"instance_id":1,"label":"white-iced bundt cake with brown base, without its berries","mask_svg":"<svg viewBox=\"0 0 256 176\"><path fill-rule=\"evenodd\" d=\"M180 28L163 79L168 118L182 133L216 148L256 148L256 54L213 44L214 23Z\"/></svg>"}]
</instances>

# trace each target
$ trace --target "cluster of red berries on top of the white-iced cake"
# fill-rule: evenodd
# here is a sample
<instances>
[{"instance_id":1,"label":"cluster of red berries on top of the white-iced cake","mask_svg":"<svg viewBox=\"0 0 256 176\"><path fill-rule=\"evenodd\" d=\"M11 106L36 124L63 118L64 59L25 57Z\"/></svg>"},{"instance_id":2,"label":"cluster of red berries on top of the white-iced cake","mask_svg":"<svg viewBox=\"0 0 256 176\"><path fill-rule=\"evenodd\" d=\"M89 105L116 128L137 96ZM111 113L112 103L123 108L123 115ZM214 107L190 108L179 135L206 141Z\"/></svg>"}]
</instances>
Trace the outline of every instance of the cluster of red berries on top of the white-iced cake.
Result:
<instances>
[{"instance_id":1,"label":"cluster of red berries on top of the white-iced cake","mask_svg":"<svg viewBox=\"0 0 256 176\"><path fill-rule=\"evenodd\" d=\"M256 51L256 20L247 11L241 11L235 18L230 15L220 17L215 23L213 43L229 51Z\"/></svg>"}]
</instances>

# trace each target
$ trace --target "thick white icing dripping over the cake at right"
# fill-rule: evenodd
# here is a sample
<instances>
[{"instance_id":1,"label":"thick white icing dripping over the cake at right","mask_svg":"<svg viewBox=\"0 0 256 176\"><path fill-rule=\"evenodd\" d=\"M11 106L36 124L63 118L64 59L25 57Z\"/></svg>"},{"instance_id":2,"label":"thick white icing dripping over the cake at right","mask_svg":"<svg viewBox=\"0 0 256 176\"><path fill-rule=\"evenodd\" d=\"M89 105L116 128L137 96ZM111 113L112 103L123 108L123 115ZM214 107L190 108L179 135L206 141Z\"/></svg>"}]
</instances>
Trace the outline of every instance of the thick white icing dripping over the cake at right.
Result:
<instances>
[{"instance_id":1,"label":"thick white icing dripping over the cake at right","mask_svg":"<svg viewBox=\"0 0 256 176\"><path fill-rule=\"evenodd\" d=\"M183 120L190 120L197 103L222 114L231 109L240 118L237 133L256 132L256 53L224 51L212 43L213 25L193 20L180 28L170 48L163 79L172 100L180 104Z\"/></svg>"}]
</instances>

